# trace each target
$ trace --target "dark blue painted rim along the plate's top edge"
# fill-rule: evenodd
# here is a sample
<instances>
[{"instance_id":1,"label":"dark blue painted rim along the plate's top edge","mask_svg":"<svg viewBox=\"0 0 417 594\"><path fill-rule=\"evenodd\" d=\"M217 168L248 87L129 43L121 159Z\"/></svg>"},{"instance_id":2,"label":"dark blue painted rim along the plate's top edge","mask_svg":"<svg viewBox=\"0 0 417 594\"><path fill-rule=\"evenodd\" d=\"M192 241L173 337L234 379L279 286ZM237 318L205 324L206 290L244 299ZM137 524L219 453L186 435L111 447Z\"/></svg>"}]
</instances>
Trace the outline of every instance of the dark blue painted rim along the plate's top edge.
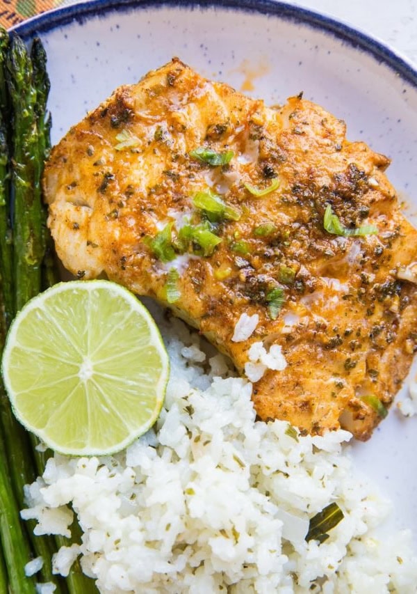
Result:
<instances>
[{"instance_id":1,"label":"dark blue painted rim along the plate's top edge","mask_svg":"<svg viewBox=\"0 0 417 594\"><path fill-rule=\"evenodd\" d=\"M417 69L407 61L407 58L398 55L394 49L382 41L322 13L279 0L89 0L42 13L12 27L10 31L15 31L25 40L30 40L34 36L56 29L58 26L65 26L72 22L82 24L92 16L104 16L111 12L124 12L137 8L145 10L146 8L164 7L226 8L278 17L297 24L311 26L313 29L319 29L336 37L354 49L370 54L378 63L387 65L404 81L417 88Z\"/></svg>"}]
</instances>

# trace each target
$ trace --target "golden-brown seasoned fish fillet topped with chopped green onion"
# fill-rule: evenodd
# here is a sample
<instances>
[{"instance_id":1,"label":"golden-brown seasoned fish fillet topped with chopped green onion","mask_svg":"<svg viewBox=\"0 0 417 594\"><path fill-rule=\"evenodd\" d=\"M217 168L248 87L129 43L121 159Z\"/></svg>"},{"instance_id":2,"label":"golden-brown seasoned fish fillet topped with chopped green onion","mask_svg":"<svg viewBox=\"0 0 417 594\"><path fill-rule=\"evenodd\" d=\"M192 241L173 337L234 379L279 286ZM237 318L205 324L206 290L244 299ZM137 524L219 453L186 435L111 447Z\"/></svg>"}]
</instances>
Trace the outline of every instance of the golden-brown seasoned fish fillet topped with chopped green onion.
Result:
<instances>
[{"instance_id":1,"label":"golden-brown seasoned fish fillet topped with chopped green onion","mask_svg":"<svg viewBox=\"0 0 417 594\"><path fill-rule=\"evenodd\" d=\"M368 439L417 341L417 232L388 164L301 95L270 109L174 59L74 126L43 185L79 279L197 327L261 419Z\"/></svg>"}]
</instances>

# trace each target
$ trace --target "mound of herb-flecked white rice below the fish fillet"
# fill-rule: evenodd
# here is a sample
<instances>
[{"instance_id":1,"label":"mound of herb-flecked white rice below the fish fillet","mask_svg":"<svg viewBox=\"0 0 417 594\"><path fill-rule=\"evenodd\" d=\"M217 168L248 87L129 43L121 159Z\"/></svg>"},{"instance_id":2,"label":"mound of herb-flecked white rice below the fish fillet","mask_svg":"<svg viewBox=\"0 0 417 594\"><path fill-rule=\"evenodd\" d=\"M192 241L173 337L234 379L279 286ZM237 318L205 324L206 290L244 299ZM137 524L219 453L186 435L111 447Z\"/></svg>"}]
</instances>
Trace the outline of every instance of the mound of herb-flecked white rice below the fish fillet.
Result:
<instances>
[{"instance_id":1,"label":"mound of herb-flecked white rice below the fish fillet","mask_svg":"<svg viewBox=\"0 0 417 594\"><path fill-rule=\"evenodd\" d=\"M218 354L206 363L178 320L161 326L172 370L155 430L115 456L54 455L26 488L37 533L67 533L72 510L83 529L54 572L80 555L103 593L415 593L411 533L377 537L389 503L356 476L350 434L256 421L252 385ZM306 542L333 501L343 520Z\"/></svg>"}]
</instances>

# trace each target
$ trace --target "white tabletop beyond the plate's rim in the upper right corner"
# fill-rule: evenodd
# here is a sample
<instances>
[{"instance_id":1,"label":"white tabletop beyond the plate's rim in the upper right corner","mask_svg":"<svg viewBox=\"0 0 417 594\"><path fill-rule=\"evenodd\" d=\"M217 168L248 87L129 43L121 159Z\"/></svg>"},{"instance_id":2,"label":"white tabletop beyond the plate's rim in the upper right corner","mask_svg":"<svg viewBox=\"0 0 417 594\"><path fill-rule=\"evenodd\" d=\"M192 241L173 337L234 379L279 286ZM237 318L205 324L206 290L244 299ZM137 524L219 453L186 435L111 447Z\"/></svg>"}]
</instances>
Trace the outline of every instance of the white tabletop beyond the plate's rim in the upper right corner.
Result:
<instances>
[{"instance_id":1,"label":"white tabletop beyond the plate's rim in the upper right corner","mask_svg":"<svg viewBox=\"0 0 417 594\"><path fill-rule=\"evenodd\" d=\"M417 0L302 0L288 4L350 24L417 66Z\"/></svg>"}]
</instances>

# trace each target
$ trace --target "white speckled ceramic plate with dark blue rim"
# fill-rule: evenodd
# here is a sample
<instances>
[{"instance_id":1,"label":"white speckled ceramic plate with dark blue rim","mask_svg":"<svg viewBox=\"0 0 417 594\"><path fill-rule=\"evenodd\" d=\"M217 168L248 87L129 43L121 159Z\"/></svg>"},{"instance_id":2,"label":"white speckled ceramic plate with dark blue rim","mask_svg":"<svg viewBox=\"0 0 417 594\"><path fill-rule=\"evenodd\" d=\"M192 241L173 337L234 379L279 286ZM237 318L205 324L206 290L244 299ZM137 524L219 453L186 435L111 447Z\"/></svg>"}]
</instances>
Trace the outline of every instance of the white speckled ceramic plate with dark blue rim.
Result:
<instances>
[{"instance_id":1,"label":"white speckled ceramic plate with dark blue rim","mask_svg":"<svg viewBox=\"0 0 417 594\"><path fill-rule=\"evenodd\" d=\"M40 33L47 49L54 141L115 86L179 56L270 104L304 91L346 120L348 138L393 159L389 177L408 197L407 214L417 212L417 72L358 31L269 0L98 0L17 30L26 39ZM354 455L417 542L417 419L393 407L371 441L354 444Z\"/></svg>"}]
</instances>

